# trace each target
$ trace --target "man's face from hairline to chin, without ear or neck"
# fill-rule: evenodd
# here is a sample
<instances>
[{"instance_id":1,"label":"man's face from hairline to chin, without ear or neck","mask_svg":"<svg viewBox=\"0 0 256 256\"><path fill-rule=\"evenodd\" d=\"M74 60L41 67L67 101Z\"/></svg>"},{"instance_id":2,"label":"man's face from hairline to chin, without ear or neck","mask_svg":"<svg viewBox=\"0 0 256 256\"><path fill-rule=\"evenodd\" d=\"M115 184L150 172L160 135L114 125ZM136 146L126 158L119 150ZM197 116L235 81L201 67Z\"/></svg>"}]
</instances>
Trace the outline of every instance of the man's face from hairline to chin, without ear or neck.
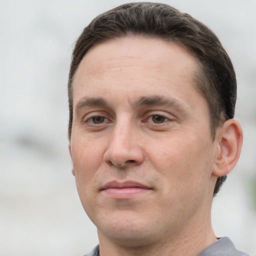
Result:
<instances>
[{"instance_id":1,"label":"man's face from hairline to chin, without ear or neck","mask_svg":"<svg viewBox=\"0 0 256 256\"><path fill-rule=\"evenodd\" d=\"M99 239L142 245L204 224L215 142L196 61L160 39L93 46L73 83L70 155Z\"/></svg>"}]
</instances>

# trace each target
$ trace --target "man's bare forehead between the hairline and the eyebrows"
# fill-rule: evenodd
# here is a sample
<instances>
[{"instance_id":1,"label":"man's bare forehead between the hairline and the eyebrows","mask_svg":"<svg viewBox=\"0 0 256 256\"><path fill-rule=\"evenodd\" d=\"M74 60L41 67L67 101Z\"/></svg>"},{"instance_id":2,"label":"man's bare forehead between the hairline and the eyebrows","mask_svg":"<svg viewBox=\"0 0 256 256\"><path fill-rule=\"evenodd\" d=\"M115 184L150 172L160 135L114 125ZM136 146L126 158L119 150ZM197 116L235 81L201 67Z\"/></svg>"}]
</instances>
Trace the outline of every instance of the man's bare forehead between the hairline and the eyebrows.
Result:
<instances>
[{"instance_id":1,"label":"man's bare forehead between the hairline and the eyebrows","mask_svg":"<svg viewBox=\"0 0 256 256\"><path fill-rule=\"evenodd\" d=\"M121 37L92 46L82 58L73 79L73 103L81 96L119 95L120 89L162 94L195 90L195 58L181 45L157 38ZM166 87L166 86L165 86ZM94 93L94 94L93 94ZM175 93L174 93L175 94ZM140 95L141 96L141 95Z\"/></svg>"}]
</instances>

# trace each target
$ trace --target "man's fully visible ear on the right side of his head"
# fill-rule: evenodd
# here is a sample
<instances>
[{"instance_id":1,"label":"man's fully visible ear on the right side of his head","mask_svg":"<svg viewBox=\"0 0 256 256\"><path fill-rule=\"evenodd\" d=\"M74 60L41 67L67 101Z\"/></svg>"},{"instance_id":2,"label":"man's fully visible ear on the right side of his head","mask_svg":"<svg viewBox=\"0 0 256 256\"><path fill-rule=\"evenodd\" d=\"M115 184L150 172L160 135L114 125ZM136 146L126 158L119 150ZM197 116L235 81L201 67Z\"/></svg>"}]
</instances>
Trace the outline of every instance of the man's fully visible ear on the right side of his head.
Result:
<instances>
[{"instance_id":1,"label":"man's fully visible ear on the right side of his head","mask_svg":"<svg viewBox=\"0 0 256 256\"><path fill-rule=\"evenodd\" d=\"M232 170L236 164L242 145L242 130L236 119L228 119L215 135L217 142L216 158L212 174L221 177Z\"/></svg>"}]
</instances>

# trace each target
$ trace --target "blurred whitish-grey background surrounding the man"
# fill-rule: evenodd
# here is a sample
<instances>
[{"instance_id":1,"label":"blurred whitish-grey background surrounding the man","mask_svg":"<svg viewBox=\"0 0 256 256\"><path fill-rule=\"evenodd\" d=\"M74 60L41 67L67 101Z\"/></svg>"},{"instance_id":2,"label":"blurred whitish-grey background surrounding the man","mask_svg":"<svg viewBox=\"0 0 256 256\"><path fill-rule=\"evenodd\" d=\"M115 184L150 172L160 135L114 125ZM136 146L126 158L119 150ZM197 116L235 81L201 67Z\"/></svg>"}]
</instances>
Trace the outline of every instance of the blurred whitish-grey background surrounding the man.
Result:
<instances>
[{"instance_id":1,"label":"blurred whitish-grey background surrounding the man","mask_svg":"<svg viewBox=\"0 0 256 256\"><path fill-rule=\"evenodd\" d=\"M157 0L155 0L157 1ZM67 140L73 42L124 0L0 0L0 256L78 256L97 244ZM256 255L256 0L161 0L219 37L238 82L239 162L214 198L217 236Z\"/></svg>"}]
</instances>

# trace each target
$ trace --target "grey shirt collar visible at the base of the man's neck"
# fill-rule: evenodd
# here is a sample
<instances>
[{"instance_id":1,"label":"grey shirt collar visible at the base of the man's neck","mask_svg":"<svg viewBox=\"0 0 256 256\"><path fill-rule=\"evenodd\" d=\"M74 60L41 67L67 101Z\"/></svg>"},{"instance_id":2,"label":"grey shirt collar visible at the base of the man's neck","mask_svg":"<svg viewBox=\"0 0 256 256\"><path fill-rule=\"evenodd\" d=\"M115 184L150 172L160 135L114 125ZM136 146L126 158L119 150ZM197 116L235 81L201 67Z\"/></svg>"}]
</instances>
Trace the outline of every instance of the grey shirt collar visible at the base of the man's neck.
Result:
<instances>
[{"instance_id":1,"label":"grey shirt collar visible at the base of the man's neck","mask_svg":"<svg viewBox=\"0 0 256 256\"><path fill-rule=\"evenodd\" d=\"M97 245L90 253L84 256L98 256L99 246ZM248 254L237 250L228 237L219 238L210 244L197 256L249 256Z\"/></svg>"}]
</instances>

